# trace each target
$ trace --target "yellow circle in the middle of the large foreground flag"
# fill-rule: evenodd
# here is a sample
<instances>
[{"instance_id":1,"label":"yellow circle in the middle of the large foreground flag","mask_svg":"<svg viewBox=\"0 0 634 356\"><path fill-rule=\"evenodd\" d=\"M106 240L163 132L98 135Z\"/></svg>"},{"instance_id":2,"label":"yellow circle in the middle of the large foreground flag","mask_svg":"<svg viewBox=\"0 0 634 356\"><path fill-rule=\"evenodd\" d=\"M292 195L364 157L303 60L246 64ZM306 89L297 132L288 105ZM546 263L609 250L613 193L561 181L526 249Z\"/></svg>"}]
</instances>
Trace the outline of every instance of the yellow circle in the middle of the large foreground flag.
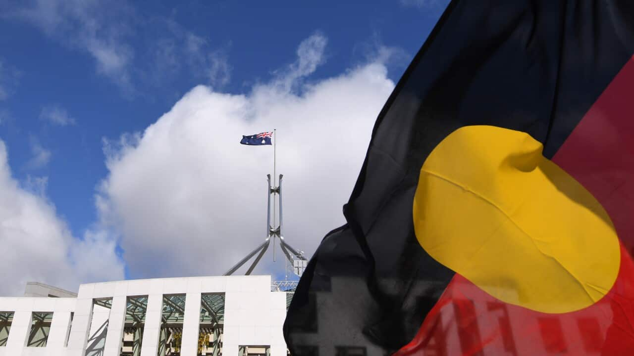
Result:
<instances>
[{"instance_id":1,"label":"yellow circle in the middle of the large foreground flag","mask_svg":"<svg viewBox=\"0 0 634 356\"><path fill-rule=\"evenodd\" d=\"M588 307L619 272L604 208L524 132L465 126L425 160L414 196L420 245L503 302L547 313Z\"/></svg>"}]
</instances>

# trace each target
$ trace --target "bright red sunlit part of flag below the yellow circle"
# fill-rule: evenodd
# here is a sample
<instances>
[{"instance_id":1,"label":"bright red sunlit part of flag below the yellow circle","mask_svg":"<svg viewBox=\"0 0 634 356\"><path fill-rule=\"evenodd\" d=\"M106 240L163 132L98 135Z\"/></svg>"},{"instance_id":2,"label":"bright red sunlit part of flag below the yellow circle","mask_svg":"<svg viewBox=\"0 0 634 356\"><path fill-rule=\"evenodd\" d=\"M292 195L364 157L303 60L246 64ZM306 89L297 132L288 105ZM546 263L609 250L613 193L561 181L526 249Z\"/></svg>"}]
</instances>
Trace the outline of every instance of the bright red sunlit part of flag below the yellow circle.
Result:
<instances>
[{"instance_id":1,"label":"bright red sunlit part of flag below the yellow circle","mask_svg":"<svg viewBox=\"0 0 634 356\"><path fill-rule=\"evenodd\" d=\"M456 274L415 338L395 355L629 355L634 350L634 264L624 248L621 255L611 292L588 308L564 314L500 302ZM456 305L465 304L471 312L456 312ZM439 347L439 340L445 345Z\"/></svg>"}]
</instances>

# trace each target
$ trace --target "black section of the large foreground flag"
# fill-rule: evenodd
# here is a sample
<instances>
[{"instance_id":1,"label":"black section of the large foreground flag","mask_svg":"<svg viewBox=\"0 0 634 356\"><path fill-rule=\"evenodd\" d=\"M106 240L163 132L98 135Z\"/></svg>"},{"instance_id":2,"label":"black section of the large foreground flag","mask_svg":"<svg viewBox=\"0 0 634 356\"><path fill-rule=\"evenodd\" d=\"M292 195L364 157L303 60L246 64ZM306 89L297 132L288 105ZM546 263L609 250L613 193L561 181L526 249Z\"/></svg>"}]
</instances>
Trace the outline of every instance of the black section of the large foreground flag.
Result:
<instances>
[{"instance_id":1,"label":"black section of the large foreground flag","mask_svg":"<svg viewBox=\"0 0 634 356\"><path fill-rule=\"evenodd\" d=\"M629 0L452 1L378 115L347 225L302 276L284 326L292 354L408 343L453 276L413 233L425 158L465 125L527 132L551 158L634 53L633 17Z\"/></svg>"}]
</instances>

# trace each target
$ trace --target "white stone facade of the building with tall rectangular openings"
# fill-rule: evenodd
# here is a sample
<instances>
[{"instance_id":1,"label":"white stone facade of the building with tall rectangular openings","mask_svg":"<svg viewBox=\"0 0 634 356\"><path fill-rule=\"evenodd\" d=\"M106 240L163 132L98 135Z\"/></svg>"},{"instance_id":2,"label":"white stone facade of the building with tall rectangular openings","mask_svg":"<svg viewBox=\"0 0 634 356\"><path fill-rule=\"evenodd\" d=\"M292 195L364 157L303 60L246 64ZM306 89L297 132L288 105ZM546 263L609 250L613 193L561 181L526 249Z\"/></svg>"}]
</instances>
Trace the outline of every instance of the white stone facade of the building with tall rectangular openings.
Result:
<instances>
[{"instance_id":1,"label":"white stone facade of the building with tall rectangular openings","mask_svg":"<svg viewBox=\"0 0 634 356\"><path fill-rule=\"evenodd\" d=\"M0 312L14 313L0 356L84 356L93 321L93 300L101 298L112 298L103 356L118 356L128 296L148 296L141 356L156 356L163 296L176 294L186 295L181 355L195 356L204 293L225 296L224 356L238 355L238 347L247 345L270 346L272 356L287 354L282 335L287 293L271 291L271 276L216 276L82 284L77 298L0 298ZM26 346L34 312L53 313L46 347Z\"/></svg>"}]
</instances>

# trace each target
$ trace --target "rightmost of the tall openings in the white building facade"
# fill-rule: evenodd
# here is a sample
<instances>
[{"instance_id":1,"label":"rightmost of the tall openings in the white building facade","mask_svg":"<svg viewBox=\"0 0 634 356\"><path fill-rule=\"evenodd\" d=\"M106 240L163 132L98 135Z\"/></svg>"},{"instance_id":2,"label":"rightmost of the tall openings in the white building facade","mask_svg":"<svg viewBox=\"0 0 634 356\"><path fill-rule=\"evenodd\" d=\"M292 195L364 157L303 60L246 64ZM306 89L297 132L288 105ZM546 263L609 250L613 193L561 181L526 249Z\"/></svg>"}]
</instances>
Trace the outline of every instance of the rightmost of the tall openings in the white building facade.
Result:
<instances>
[{"instance_id":1,"label":"rightmost of the tall openings in the white building facade","mask_svg":"<svg viewBox=\"0 0 634 356\"><path fill-rule=\"evenodd\" d=\"M198 355L217 355L223 346L224 293L200 296Z\"/></svg>"}]
</instances>

